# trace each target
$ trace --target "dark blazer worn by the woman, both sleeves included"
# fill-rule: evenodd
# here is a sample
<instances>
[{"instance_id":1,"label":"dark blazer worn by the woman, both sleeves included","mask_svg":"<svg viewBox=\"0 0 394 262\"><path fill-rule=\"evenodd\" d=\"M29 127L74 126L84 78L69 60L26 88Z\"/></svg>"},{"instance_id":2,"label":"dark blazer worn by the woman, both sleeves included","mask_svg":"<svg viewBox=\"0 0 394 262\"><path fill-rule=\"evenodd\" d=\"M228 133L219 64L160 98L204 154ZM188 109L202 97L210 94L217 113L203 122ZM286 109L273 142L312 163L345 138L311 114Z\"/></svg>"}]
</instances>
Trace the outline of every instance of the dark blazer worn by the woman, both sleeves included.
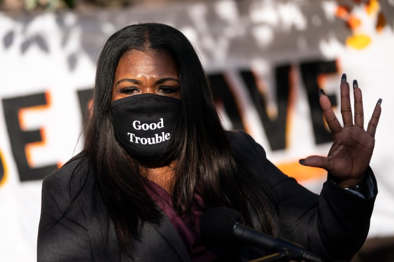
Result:
<instances>
[{"instance_id":1,"label":"dark blazer worn by the woman, both sleeves included","mask_svg":"<svg viewBox=\"0 0 394 262\"><path fill-rule=\"evenodd\" d=\"M330 179L319 196L279 171L266 158L264 149L245 132L229 131L228 139L235 157L264 176L276 191L278 205L275 208L272 204L276 210L273 218L281 238L304 246L326 262L349 261L361 248L377 194L370 169L367 175L374 183L373 197L363 199ZM85 174L76 174L75 183L70 184L76 164L77 161L69 163L43 181L37 261L130 261L118 245L113 223L93 179L84 180ZM86 182L80 190L83 181ZM74 204L64 213L79 190ZM250 212L253 214L253 210ZM144 224L140 241L135 241L134 255L136 261L144 262L190 261L182 240L165 215L160 225ZM255 249L242 246L240 258L235 260L257 257Z\"/></svg>"}]
</instances>

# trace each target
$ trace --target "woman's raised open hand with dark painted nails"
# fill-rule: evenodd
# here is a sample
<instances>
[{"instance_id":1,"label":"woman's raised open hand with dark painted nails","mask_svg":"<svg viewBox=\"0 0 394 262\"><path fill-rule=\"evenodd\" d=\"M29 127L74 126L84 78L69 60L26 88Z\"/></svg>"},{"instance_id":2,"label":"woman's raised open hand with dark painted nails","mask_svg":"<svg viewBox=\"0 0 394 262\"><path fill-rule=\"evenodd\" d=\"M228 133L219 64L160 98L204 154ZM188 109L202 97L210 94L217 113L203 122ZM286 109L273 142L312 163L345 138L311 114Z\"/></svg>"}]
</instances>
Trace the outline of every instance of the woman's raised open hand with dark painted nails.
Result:
<instances>
[{"instance_id":1,"label":"woman's raised open hand with dark painted nails","mask_svg":"<svg viewBox=\"0 0 394 262\"><path fill-rule=\"evenodd\" d=\"M333 145L327 157L312 155L301 159L305 166L320 167L331 175L338 186L352 187L361 182L369 166L375 146L375 132L379 121L382 99L379 99L369 120L367 131L364 130L363 98L357 81L353 82L354 124L350 106L350 90L346 74L341 80L341 114L344 127L341 126L331 107L330 100L319 90L320 106L333 136Z\"/></svg>"}]
</instances>

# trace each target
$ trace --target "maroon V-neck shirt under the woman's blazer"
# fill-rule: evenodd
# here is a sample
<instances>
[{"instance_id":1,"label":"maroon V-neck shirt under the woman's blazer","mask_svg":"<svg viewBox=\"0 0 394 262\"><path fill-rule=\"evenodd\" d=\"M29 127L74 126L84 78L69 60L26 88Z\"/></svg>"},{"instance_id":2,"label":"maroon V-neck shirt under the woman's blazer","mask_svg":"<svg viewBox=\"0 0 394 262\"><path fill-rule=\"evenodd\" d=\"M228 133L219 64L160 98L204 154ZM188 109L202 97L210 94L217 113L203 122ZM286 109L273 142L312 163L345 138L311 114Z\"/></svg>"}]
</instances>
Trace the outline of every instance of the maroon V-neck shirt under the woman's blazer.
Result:
<instances>
[{"instance_id":1,"label":"maroon V-neck shirt under the woman's blazer","mask_svg":"<svg viewBox=\"0 0 394 262\"><path fill-rule=\"evenodd\" d=\"M146 186L148 194L170 218L172 225L185 244L192 262L237 261L230 254L228 248L220 246L206 247L202 242L199 225L203 214L201 207L204 206L204 202L200 196L194 194L197 205L194 204L192 207L193 222L193 219L190 217L178 215L172 206L172 197L165 189L151 180L148 180L148 183L149 186Z\"/></svg>"}]
</instances>

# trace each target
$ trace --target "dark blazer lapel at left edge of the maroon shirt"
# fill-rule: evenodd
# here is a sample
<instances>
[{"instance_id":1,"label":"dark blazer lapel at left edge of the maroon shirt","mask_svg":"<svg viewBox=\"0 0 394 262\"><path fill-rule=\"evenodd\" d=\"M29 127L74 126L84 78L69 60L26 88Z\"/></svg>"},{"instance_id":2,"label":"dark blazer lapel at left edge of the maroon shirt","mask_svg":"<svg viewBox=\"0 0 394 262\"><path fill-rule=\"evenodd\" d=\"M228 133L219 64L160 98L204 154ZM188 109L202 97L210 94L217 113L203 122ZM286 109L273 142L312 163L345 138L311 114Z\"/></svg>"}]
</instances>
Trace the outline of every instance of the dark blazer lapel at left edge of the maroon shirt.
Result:
<instances>
[{"instance_id":1,"label":"dark blazer lapel at left edge of the maroon shirt","mask_svg":"<svg viewBox=\"0 0 394 262\"><path fill-rule=\"evenodd\" d=\"M189 262L190 257L189 253L186 250L185 244L179 237L179 234L176 232L175 228L173 227L170 218L164 214L163 220L161 221L160 225L149 223L157 232L167 240L173 249L178 253L179 257L184 262Z\"/></svg>"}]
</instances>

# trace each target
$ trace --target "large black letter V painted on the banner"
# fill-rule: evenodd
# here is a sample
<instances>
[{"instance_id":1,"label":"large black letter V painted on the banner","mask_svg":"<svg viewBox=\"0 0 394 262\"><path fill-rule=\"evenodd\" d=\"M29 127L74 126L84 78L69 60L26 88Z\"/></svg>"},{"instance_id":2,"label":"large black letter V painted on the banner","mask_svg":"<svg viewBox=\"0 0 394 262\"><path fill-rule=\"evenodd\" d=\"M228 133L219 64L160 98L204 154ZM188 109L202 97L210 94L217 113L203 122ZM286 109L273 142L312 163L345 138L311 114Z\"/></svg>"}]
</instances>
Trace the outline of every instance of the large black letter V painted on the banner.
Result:
<instances>
[{"instance_id":1,"label":"large black letter V painted on the banner","mask_svg":"<svg viewBox=\"0 0 394 262\"><path fill-rule=\"evenodd\" d=\"M241 76L249 90L250 97L263 122L264 130L270 142L272 150L284 149L286 147L286 118L289 104L289 80L290 66L278 66L275 68L276 98L278 115L276 119L270 119L266 111L266 103L262 94L256 86L256 81L251 71L242 71Z\"/></svg>"}]
</instances>

